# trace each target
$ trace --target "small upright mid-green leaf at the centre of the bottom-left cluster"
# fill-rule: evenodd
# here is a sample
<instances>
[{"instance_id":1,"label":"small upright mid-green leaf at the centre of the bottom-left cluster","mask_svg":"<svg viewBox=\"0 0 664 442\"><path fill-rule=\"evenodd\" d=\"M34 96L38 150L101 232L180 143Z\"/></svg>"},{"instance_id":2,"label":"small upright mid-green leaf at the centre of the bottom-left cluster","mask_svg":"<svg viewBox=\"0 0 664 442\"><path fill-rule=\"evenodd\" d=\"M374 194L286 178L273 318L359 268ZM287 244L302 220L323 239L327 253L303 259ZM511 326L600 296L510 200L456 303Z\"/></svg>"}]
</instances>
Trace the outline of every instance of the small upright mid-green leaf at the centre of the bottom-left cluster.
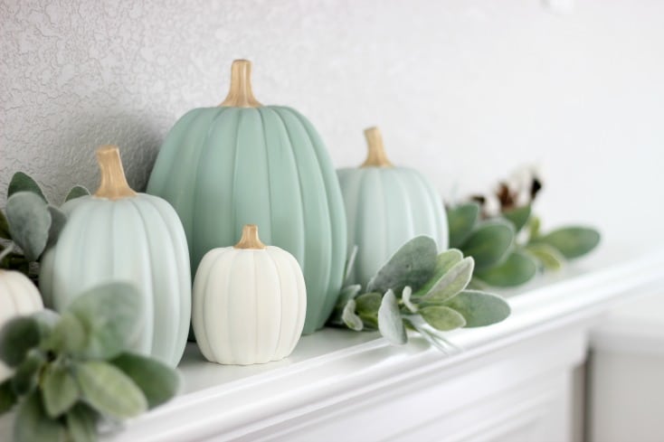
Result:
<instances>
[{"instance_id":1,"label":"small upright mid-green leaf at the centre of the bottom-left cluster","mask_svg":"<svg viewBox=\"0 0 664 442\"><path fill-rule=\"evenodd\" d=\"M46 367L41 383L43 405L51 418L61 416L79 399L79 387L71 371L60 363Z\"/></svg>"}]
</instances>

